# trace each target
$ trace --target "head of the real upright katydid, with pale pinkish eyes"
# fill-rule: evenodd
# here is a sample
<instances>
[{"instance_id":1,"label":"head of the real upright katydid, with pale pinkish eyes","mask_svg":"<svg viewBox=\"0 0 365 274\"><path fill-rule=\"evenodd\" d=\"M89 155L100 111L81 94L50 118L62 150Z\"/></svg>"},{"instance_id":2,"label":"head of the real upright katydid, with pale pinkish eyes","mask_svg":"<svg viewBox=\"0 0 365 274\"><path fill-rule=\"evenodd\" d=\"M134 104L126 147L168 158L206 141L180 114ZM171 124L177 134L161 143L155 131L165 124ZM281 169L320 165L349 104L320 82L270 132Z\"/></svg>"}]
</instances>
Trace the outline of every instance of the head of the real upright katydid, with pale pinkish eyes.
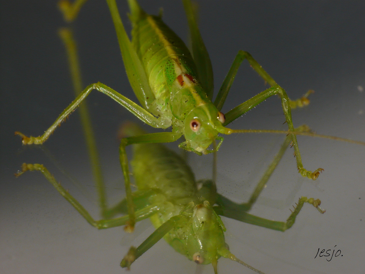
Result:
<instances>
[{"instance_id":1,"label":"head of the real upright katydid, with pale pinkish eyes","mask_svg":"<svg viewBox=\"0 0 365 274\"><path fill-rule=\"evenodd\" d=\"M217 139L218 128L223 128L224 114L213 104L195 107L184 120L186 149L197 152L205 150Z\"/></svg>"}]
</instances>

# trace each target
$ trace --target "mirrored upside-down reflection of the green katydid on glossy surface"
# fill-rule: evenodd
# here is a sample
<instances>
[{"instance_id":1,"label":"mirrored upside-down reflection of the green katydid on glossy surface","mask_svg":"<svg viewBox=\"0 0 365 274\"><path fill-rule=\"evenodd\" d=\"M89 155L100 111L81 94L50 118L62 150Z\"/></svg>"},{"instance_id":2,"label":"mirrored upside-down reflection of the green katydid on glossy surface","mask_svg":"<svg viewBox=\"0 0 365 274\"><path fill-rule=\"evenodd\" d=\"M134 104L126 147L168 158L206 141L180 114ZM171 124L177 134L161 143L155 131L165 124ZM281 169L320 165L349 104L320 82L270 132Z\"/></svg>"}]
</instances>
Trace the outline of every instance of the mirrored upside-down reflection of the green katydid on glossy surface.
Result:
<instances>
[{"instance_id":1,"label":"mirrored upside-down reflection of the green katydid on glossy surface","mask_svg":"<svg viewBox=\"0 0 365 274\"><path fill-rule=\"evenodd\" d=\"M307 126L301 126L296 131L310 132ZM126 123L123 132L126 136L145 134L139 126L133 123ZM242 204L230 201L218 194L214 181L196 181L191 168L176 152L161 144L134 144L131 165L138 190L131 196L136 205L136 221L149 217L156 230L139 247L131 247L120 266L129 269L139 256L164 237L177 252L187 256L188 259L197 264L212 264L215 274L217 274L217 260L220 257L234 260L263 274L229 251L224 240L226 228L219 215L277 231L285 231L292 227L304 203L310 203L322 214L325 212L319 208L321 203L319 199L301 197L285 222L268 220L247 213L266 186L290 142L291 136L287 136L280 151L257 184L249 202ZM118 213L128 213L126 199L105 210L105 219L94 220L43 165L24 163L22 171L18 172L16 176L28 170L41 171L57 191L89 224L97 229L127 224L128 215L115 217ZM105 201L105 197L99 197ZM215 204L217 206L214 206Z\"/></svg>"}]
</instances>

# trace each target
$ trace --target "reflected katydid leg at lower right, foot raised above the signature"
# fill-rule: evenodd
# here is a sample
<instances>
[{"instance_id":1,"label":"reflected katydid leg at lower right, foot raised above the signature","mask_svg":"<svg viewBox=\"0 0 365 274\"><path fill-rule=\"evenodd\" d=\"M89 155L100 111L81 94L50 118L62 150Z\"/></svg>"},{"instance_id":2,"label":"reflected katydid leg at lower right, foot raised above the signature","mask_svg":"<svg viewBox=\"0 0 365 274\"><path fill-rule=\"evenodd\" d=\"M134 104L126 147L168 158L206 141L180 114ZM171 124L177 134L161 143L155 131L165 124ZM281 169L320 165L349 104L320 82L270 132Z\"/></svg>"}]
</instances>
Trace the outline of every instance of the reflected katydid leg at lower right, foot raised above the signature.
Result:
<instances>
[{"instance_id":1,"label":"reflected katydid leg at lower right, foot raised above the signature","mask_svg":"<svg viewBox=\"0 0 365 274\"><path fill-rule=\"evenodd\" d=\"M258 225L260 227L266 227L273 230L278 231L285 231L292 227L292 225L295 222L295 218L300 212L301 208L303 207L304 203L310 203L313 205L320 213L326 212L326 210L322 210L319 208L320 200L314 199L314 198L307 198L307 197L301 197L299 198L298 203L296 204L296 207L294 207L294 211L292 211L292 214L290 214L289 218L286 222L280 222L280 221L273 221L268 220L265 218L261 218L258 216L254 216L252 214L249 214L242 210L241 205L238 205L227 198L224 202L225 204L223 206L214 206L214 210L217 214L221 216L225 216L227 218L235 219L241 222L246 222L248 224ZM227 206L226 206L227 205ZM236 206L236 207L235 207Z\"/></svg>"}]
</instances>

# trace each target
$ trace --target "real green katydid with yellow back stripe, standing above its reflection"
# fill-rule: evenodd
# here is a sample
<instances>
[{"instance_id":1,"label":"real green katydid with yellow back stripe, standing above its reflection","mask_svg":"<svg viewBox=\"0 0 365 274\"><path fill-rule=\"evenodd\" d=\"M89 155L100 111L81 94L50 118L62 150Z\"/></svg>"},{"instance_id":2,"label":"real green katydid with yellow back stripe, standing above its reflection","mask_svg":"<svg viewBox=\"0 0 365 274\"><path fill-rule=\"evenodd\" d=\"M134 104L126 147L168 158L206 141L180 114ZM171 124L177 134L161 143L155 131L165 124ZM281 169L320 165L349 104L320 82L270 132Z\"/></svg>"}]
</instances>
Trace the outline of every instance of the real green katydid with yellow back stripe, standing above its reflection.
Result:
<instances>
[{"instance_id":1,"label":"real green katydid with yellow back stripe, standing above its reflection","mask_svg":"<svg viewBox=\"0 0 365 274\"><path fill-rule=\"evenodd\" d=\"M62 2L61 6L64 8L65 17L73 19L84 2L84 0L79 0L74 5L65 4L68 3L65 1ZM289 128L289 131L285 133L291 134L298 171L310 179L318 177L322 171L321 168L312 172L303 167L295 136L295 134L316 135L295 132L291 118L291 107L307 104L306 96L308 93L302 99L290 100L283 88L261 68L249 53L239 51L216 99L212 102L213 73L211 62L197 28L190 1L185 0L184 7L191 32L192 55L181 39L162 22L161 16L146 14L134 0L128 1L131 9L130 18L133 24L133 38L131 42L124 30L115 1L107 0L107 3L116 28L128 79L142 106L98 82L85 88L42 136L26 137L22 133L17 132L17 134L22 136L23 144L42 144L93 89L107 94L150 126L163 129L172 126L172 132L128 137L124 138L120 143L120 162L124 174L129 208L128 214L130 217L130 222L128 222L126 227L127 230L132 230L135 223L128 160L125 152L127 145L146 142L173 142L184 135L185 141L179 145L180 148L198 154L206 154L217 151L222 144L223 137L218 136L218 133L284 133L283 131L275 130L233 130L225 127L234 119L272 95L278 95L281 98L281 104ZM68 16L67 12L71 15ZM224 115L220 110L226 100L237 70L244 59L249 61L252 68L271 87ZM219 144L215 149L209 150L208 147L214 140L219 140Z\"/></svg>"}]
</instances>

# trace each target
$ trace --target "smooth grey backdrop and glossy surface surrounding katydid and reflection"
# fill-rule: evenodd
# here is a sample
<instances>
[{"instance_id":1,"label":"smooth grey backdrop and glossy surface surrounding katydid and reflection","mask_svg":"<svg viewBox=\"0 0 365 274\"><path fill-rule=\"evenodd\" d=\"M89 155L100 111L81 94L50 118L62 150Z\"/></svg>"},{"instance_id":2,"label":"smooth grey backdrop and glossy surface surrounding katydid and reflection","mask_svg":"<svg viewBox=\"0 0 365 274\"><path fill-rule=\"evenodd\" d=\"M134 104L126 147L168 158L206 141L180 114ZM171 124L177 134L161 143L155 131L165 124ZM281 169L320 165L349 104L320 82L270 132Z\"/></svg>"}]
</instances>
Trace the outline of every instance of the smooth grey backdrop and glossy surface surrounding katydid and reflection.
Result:
<instances>
[{"instance_id":1,"label":"smooth grey backdrop and glossy surface surrounding katydid and reflection","mask_svg":"<svg viewBox=\"0 0 365 274\"><path fill-rule=\"evenodd\" d=\"M130 29L124 1L120 13ZM185 39L180 1L140 1L149 13L164 8L164 21ZM295 125L317 133L365 141L364 1L199 1L200 30L210 53L217 92L238 50L249 51L292 99L314 89L310 106L293 111ZM41 174L12 175L23 162L43 163L98 218L95 187L77 112L45 147L74 178L63 175L41 149L24 147L15 130L38 136L73 100L64 47L57 28L65 26L56 1L1 3L1 273L124 273L119 262L130 245L151 232L149 220L133 235L122 228L97 231ZM104 1L91 0L73 24L82 76L101 81L135 99L123 68L111 17ZM127 31L128 31L127 30ZM186 39L185 39L186 40ZM223 112L265 89L243 62ZM137 121L107 96L88 98L95 124L110 204L123 197L116 131ZM232 128L286 129L280 101L270 98L239 118ZM148 127L146 127L148 129ZM219 192L246 201L278 150L283 136L226 136L218 153ZM316 181L296 172L288 151L251 213L286 220L301 196L320 198L321 215L304 205L295 225L282 233L223 218L227 243L238 258L265 273L364 273L364 146L298 137L303 164L324 168ZM174 143L170 147L177 149ZM192 153L191 153L192 154ZM211 176L211 157L189 155L197 178ZM361 199L360 199L361 198ZM318 248L341 250L327 262ZM327 257L328 258L328 257ZM220 259L219 273L253 273ZM213 273L196 267L163 240L141 256L130 273Z\"/></svg>"}]
</instances>

